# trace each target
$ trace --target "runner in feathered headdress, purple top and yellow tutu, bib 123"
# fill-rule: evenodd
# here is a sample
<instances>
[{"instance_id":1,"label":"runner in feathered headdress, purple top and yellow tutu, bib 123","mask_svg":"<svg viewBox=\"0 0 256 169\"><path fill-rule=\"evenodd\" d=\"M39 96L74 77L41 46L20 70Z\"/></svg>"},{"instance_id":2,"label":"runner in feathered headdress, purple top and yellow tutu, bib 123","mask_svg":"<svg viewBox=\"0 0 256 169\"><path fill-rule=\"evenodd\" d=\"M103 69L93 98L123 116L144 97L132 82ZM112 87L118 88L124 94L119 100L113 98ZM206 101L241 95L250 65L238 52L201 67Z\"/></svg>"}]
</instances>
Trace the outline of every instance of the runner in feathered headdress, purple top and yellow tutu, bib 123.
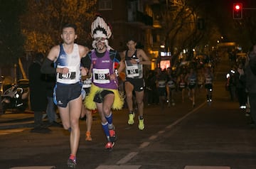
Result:
<instances>
[{"instance_id":1,"label":"runner in feathered headdress, purple top and yellow tutu, bib 123","mask_svg":"<svg viewBox=\"0 0 256 169\"><path fill-rule=\"evenodd\" d=\"M92 48L85 57L85 70L92 69L92 87L85 98L87 109L97 109L102 121L102 128L107 138L106 149L112 149L116 141L116 133L112 122L112 109L122 109L124 99L118 91L118 75L124 69L119 53L108 45L112 36L109 24L101 16L97 16L91 26ZM119 64L114 69L114 63Z\"/></svg>"}]
</instances>

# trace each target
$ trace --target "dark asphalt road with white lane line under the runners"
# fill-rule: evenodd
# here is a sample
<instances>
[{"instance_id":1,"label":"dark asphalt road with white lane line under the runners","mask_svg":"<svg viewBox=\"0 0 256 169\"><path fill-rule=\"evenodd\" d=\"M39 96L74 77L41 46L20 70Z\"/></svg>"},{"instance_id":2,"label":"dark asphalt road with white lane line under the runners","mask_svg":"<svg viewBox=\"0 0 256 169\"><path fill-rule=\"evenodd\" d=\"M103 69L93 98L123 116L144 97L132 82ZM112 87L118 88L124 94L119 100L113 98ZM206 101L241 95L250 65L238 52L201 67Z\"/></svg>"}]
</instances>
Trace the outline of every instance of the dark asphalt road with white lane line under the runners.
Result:
<instances>
[{"instance_id":1,"label":"dark asphalt road with white lane line under the runners","mask_svg":"<svg viewBox=\"0 0 256 169\"><path fill-rule=\"evenodd\" d=\"M230 102L224 87L228 68L223 58L215 73L210 106L203 90L196 96L195 108L188 98L181 103L178 92L175 107L145 106L144 131L137 128L137 121L133 126L127 124L127 109L114 111L118 140L111 152L104 149L97 114L90 142L85 141L85 121L81 120L77 168L255 169L256 129L250 129L250 119L238 109L238 102ZM12 124L3 120L14 115L27 119L19 119L23 126L11 127L17 124L14 117L9 118ZM50 127L50 133L31 133L31 114L4 114L0 119L0 168L67 168L67 131ZM4 127L8 123L10 127Z\"/></svg>"}]
</instances>

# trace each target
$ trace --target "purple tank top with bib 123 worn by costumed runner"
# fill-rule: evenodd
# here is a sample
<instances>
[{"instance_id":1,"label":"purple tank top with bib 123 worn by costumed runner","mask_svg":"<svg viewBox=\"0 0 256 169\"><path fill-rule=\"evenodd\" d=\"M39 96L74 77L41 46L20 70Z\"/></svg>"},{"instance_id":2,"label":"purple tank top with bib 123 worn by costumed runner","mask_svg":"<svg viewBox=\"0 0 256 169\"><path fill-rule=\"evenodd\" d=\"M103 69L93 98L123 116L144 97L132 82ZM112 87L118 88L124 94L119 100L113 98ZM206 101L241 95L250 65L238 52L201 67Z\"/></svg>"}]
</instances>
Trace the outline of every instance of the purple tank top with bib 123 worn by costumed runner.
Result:
<instances>
[{"instance_id":1,"label":"purple tank top with bib 123 worn by costumed runner","mask_svg":"<svg viewBox=\"0 0 256 169\"><path fill-rule=\"evenodd\" d=\"M110 51L107 50L102 58L98 58L95 50L92 51L92 83L105 89L117 89L118 81L110 80L114 72L114 62L110 59Z\"/></svg>"}]
</instances>

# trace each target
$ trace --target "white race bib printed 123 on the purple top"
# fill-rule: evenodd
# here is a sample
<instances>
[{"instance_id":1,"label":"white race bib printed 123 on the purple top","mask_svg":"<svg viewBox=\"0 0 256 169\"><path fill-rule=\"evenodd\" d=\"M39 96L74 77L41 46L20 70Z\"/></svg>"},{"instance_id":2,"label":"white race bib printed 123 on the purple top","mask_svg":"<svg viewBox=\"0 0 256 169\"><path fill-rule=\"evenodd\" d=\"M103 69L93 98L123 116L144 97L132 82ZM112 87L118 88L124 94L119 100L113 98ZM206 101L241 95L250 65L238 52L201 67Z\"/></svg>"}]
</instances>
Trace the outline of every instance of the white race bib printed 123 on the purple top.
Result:
<instances>
[{"instance_id":1,"label":"white race bib printed 123 on the purple top","mask_svg":"<svg viewBox=\"0 0 256 169\"><path fill-rule=\"evenodd\" d=\"M93 69L93 82L106 84L110 83L110 70L108 69Z\"/></svg>"}]
</instances>

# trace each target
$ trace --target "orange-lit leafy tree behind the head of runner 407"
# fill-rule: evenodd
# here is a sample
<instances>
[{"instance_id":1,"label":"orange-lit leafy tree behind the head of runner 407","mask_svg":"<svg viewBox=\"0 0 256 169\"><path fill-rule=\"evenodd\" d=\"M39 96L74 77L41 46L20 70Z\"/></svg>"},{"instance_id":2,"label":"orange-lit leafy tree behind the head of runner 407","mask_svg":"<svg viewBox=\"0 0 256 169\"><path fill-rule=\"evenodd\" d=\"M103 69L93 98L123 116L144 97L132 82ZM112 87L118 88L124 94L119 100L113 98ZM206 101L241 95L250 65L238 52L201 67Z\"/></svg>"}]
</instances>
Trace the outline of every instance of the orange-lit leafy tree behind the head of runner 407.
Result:
<instances>
[{"instance_id":1,"label":"orange-lit leafy tree behind the head of runner 407","mask_svg":"<svg viewBox=\"0 0 256 169\"><path fill-rule=\"evenodd\" d=\"M63 23L78 26L78 43L89 44L90 24L95 16L95 0L28 0L28 10L21 17L26 51L47 53L61 43Z\"/></svg>"}]
</instances>

